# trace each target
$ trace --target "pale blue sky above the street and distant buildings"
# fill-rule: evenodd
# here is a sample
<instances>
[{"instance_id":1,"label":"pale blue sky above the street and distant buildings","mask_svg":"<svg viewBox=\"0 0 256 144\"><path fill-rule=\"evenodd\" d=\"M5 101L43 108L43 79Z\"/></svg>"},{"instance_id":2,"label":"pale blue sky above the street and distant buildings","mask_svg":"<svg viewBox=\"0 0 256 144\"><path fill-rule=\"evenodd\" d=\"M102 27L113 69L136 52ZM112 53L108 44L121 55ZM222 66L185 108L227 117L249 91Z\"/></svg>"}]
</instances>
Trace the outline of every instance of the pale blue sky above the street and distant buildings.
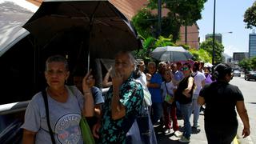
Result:
<instances>
[{"instance_id":1,"label":"pale blue sky above the street and distant buildings","mask_svg":"<svg viewBox=\"0 0 256 144\"><path fill-rule=\"evenodd\" d=\"M224 53L233 57L234 52L248 52L249 34L243 22L245 11L255 0L216 0L215 34L222 34ZM198 20L200 42L205 41L206 34L213 34L214 0L207 0L202 10L202 19ZM232 32L232 34L228 32Z\"/></svg>"}]
</instances>

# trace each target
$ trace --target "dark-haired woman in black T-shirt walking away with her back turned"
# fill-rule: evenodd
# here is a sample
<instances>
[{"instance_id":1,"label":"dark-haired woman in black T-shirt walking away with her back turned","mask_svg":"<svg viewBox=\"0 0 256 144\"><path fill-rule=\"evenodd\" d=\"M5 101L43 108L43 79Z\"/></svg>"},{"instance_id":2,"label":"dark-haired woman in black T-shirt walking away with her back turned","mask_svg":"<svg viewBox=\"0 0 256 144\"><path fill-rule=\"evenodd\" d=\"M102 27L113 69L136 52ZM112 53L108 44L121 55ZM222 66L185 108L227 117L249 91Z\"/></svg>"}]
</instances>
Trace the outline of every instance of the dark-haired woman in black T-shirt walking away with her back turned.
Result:
<instances>
[{"instance_id":1,"label":"dark-haired woman in black T-shirt walking away with her back turned","mask_svg":"<svg viewBox=\"0 0 256 144\"><path fill-rule=\"evenodd\" d=\"M232 68L218 64L214 70L217 82L206 85L200 92L198 104L206 104L205 130L209 144L230 144L237 134L238 119L235 108L242 119L242 135L250 135L250 124L244 98L238 86L230 85Z\"/></svg>"}]
</instances>

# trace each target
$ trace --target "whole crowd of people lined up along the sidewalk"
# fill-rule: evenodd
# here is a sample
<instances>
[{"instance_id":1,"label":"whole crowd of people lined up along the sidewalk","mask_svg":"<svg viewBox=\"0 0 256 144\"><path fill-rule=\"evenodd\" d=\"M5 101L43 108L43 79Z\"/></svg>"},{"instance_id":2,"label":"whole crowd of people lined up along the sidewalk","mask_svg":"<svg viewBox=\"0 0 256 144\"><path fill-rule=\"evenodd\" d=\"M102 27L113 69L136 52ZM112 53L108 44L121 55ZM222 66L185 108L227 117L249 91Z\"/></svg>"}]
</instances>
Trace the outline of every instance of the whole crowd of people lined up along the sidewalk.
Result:
<instances>
[{"instance_id":1,"label":"whole crowd of people lined up along the sidewalk","mask_svg":"<svg viewBox=\"0 0 256 144\"><path fill-rule=\"evenodd\" d=\"M110 76L112 69L114 75ZM43 92L39 92L26 109L23 143L83 143L79 126L82 117L86 117L96 143L133 143L133 137L139 137L142 143L157 143L153 125L159 122L164 133L173 129L180 142L190 142L191 130L200 127L200 110L205 114L208 143L230 143L238 130L235 108L242 118L243 136L250 135L243 95L237 86L229 84L231 70L230 66L219 64L212 74L203 62L146 65L142 59L136 61L130 52L121 51L102 80L103 86L110 86L102 96L94 86L91 70L80 78L80 85L66 86L70 76L66 58L51 56L45 70L49 118ZM149 139L140 135L140 121L145 115L143 122L148 125L143 128L150 132ZM178 117L184 120L182 130ZM137 135L133 134L136 129Z\"/></svg>"}]
</instances>

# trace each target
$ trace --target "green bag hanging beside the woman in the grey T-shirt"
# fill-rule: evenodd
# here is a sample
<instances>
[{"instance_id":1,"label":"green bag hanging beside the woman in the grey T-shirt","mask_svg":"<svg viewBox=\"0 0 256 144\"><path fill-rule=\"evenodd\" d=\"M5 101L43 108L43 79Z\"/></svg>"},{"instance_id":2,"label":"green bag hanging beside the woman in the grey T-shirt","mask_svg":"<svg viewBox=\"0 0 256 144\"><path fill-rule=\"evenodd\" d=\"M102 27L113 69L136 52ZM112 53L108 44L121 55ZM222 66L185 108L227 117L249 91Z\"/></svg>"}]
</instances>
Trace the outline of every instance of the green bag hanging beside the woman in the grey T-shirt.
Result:
<instances>
[{"instance_id":1,"label":"green bag hanging beside the woman in the grey T-shirt","mask_svg":"<svg viewBox=\"0 0 256 144\"><path fill-rule=\"evenodd\" d=\"M86 118L82 117L80 120L80 128L82 132L82 139L84 144L95 144L94 136L91 134L90 126L88 125Z\"/></svg>"}]
</instances>

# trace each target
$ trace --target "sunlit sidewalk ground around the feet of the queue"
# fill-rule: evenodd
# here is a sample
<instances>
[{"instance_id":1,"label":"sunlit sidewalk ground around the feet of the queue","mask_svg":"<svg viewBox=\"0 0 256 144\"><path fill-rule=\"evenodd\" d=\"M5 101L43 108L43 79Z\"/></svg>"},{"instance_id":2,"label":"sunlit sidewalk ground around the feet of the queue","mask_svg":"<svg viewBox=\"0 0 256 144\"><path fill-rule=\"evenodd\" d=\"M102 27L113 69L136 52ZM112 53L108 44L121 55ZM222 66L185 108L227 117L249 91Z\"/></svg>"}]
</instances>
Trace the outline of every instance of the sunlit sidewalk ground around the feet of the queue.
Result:
<instances>
[{"instance_id":1,"label":"sunlit sidewalk ground around the feet of the queue","mask_svg":"<svg viewBox=\"0 0 256 144\"><path fill-rule=\"evenodd\" d=\"M191 115L190 122L193 122L193 114ZM200 127L198 130L192 129L192 134L190 137L190 144L207 144L207 139L206 139L206 132L204 129L204 115L199 116L198 123ZM183 126L183 120L178 119L178 126L181 127ZM170 134L165 134L164 129L162 128L161 125L157 125L154 127L155 134L158 138L158 144L166 144L166 143L173 143L173 144L181 144L182 142L178 142L179 138L176 138L174 136L174 131L171 130ZM182 131L182 130L181 130ZM232 142L233 144L238 144L238 141Z\"/></svg>"}]
</instances>

